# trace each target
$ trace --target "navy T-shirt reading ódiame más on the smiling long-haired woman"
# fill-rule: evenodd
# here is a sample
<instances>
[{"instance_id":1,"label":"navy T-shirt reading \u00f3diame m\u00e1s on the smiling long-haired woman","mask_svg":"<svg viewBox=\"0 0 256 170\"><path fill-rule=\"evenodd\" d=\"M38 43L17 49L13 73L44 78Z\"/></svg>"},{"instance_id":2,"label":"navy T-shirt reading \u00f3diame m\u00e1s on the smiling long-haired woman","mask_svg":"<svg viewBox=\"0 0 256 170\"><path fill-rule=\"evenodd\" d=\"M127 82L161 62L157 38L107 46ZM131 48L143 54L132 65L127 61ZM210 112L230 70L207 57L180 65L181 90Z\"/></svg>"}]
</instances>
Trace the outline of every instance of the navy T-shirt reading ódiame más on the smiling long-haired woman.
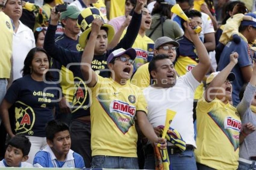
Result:
<instances>
[{"instance_id":1,"label":"navy T-shirt reading \u00f3diame m\u00e1s on the smiling long-haired woman","mask_svg":"<svg viewBox=\"0 0 256 170\"><path fill-rule=\"evenodd\" d=\"M53 108L59 92L56 84L35 81L30 75L15 80L5 99L15 107L15 132L45 137L45 125L53 120ZM55 89L54 89L55 88Z\"/></svg>"}]
</instances>

